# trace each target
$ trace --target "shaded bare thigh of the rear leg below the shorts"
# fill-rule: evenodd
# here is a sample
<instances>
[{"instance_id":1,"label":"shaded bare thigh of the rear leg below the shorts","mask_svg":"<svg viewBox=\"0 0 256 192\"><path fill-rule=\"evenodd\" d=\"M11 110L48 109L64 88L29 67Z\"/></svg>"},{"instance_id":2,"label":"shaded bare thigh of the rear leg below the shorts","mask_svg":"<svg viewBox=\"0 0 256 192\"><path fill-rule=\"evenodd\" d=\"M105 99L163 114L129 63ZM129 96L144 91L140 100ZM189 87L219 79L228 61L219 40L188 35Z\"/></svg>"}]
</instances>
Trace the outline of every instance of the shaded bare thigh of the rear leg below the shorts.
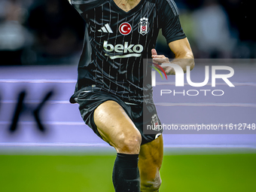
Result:
<instances>
[{"instance_id":1,"label":"shaded bare thigh of the rear leg below the shorts","mask_svg":"<svg viewBox=\"0 0 256 192\"><path fill-rule=\"evenodd\" d=\"M139 152L139 172L142 185L160 182L160 168L163 162L163 136L141 146Z\"/></svg>"}]
</instances>

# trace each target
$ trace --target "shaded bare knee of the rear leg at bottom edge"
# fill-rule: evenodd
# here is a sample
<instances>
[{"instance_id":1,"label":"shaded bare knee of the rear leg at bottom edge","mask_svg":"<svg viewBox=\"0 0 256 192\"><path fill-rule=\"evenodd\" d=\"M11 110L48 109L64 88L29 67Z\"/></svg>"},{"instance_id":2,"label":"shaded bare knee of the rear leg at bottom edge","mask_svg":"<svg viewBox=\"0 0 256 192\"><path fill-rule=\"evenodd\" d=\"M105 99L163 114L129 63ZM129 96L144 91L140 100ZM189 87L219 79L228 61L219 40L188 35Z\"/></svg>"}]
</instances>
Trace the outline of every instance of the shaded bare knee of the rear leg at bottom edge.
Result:
<instances>
[{"instance_id":1,"label":"shaded bare knee of the rear leg at bottom edge","mask_svg":"<svg viewBox=\"0 0 256 192\"><path fill-rule=\"evenodd\" d=\"M142 192L157 192L160 188L162 181L160 175L157 175L156 178L148 179L147 181L141 182L141 191Z\"/></svg>"}]
</instances>

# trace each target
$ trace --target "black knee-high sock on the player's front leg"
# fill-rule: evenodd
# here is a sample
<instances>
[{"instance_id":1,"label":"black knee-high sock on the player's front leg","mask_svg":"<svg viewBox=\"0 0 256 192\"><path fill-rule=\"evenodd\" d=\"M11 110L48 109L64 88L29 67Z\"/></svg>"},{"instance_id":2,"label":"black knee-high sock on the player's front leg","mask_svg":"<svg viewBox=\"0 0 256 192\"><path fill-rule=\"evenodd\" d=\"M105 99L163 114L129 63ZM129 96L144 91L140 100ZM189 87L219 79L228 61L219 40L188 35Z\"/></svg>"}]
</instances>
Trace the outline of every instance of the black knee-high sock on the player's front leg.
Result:
<instances>
[{"instance_id":1,"label":"black knee-high sock on the player's front leg","mask_svg":"<svg viewBox=\"0 0 256 192\"><path fill-rule=\"evenodd\" d=\"M139 192L139 154L117 154L114 161L113 184L116 192Z\"/></svg>"}]
</instances>

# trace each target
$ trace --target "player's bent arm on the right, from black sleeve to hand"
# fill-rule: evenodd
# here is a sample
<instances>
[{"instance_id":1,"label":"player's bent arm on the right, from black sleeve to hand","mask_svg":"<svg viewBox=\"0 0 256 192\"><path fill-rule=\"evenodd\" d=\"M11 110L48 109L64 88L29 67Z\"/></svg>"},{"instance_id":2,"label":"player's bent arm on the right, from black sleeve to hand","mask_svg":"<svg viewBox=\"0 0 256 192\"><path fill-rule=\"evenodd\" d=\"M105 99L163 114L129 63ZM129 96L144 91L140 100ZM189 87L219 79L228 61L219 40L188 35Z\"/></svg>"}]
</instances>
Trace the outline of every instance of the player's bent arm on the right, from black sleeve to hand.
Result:
<instances>
[{"instance_id":1,"label":"player's bent arm on the right, from black sleeve to hand","mask_svg":"<svg viewBox=\"0 0 256 192\"><path fill-rule=\"evenodd\" d=\"M175 54L175 59L171 62L181 66L184 72L187 71L187 66L192 70L194 68L194 56L186 35L181 28L178 8L175 2L170 0L157 1L157 8L159 10L162 34L166 38L169 48ZM157 51L154 49L152 50L152 58L159 65L170 63L166 56L157 55ZM161 67L165 70L166 75L175 75L175 70L171 66L162 65Z\"/></svg>"}]
</instances>

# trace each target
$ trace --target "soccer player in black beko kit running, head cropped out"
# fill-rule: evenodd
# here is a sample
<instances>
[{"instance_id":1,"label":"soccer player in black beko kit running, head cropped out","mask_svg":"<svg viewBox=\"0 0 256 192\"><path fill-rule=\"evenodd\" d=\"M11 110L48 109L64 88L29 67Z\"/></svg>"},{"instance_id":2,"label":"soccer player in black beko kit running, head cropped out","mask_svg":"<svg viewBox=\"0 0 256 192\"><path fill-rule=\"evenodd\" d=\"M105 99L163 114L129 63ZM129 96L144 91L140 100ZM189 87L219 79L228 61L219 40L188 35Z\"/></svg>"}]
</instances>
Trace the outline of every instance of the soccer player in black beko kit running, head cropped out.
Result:
<instances>
[{"instance_id":1,"label":"soccer player in black beko kit running, head cropped out","mask_svg":"<svg viewBox=\"0 0 256 192\"><path fill-rule=\"evenodd\" d=\"M152 102L152 63L143 59L169 62L154 49L162 29L175 53L172 62L184 71L186 66L193 69L194 56L178 8L173 0L69 2L87 23L78 83L70 102L79 104L84 122L117 151L112 174L115 191L159 191L163 136L160 131L143 133L146 124L160 124ZM164 70L175 74L172 67Z\"/></svg>"}]
</instances>

